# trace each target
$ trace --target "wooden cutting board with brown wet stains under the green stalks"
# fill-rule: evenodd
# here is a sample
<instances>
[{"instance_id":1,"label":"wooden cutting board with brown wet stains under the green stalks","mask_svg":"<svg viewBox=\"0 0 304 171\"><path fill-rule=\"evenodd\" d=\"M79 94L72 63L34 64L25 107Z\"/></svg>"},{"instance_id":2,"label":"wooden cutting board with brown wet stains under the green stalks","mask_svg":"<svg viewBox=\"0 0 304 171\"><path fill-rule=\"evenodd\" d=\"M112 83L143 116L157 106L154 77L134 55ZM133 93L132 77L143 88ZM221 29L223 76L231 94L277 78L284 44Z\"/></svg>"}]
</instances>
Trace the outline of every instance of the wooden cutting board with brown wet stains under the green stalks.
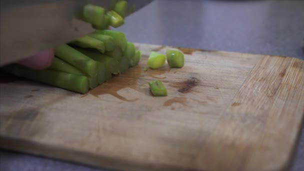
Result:
<instances>
[{"instance_id":1,"label":"wooden cutting board with brown wet stains under the green stalks","mask_svg":"<svg viewBox=\"0 0 304 171\"><path fill-rule=\"evenodd\" d=\"M123 170L284 170L304 114L304 61L179 48L183 68L138 66L82 95L0 84L0 147ZM168 96L153 97L160 79Z\"/></svg>"}]
</instances>

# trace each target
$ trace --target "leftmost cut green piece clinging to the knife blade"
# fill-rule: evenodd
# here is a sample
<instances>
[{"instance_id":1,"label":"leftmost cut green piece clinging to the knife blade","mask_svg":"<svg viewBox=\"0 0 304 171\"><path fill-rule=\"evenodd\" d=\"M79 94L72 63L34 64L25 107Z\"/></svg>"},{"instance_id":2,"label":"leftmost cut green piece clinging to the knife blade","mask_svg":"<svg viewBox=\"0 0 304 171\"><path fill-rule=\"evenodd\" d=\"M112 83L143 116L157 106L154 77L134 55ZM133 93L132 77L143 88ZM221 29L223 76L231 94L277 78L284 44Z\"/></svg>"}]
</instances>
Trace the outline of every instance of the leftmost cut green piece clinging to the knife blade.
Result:
<instances>
[{"instance_id":1,"label":"leftmost cut green piece clinging to the knife blade","mask_svg":"<svg viewBox=\"0 0 304 171\"><path fill-rule=\"evenodd\" d=\"M93 5L86 4L83 7L83 19L93 25L101 25L104 19L104 8Z\"/></svg>"}]
</instances>

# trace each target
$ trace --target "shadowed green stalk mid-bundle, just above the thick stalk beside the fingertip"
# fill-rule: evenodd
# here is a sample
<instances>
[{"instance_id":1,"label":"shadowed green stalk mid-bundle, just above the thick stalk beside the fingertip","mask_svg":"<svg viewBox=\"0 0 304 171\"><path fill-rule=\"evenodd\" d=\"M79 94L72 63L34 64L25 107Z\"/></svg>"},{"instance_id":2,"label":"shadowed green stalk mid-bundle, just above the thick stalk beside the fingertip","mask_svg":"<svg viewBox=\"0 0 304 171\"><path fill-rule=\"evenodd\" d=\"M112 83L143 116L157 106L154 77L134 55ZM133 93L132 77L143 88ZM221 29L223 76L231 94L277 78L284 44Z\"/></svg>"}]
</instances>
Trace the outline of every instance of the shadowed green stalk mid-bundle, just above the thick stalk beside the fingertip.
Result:
<instances>
[{"instance_id":1,"label":"shadowed green stalk mid-bundle, just above the thick stalk beside the fingertip","mask_svg":"<svg viewBox=\"0 0 304 171\"><path fill-rule=\"evenodd\" d=\"M85 48L76 48L76 49L81 53L89 56L89 58L95 61L104 62L106 71L114 74L119 73L119 62L115 60L113 57L109 57L98 51L93 51Z\"/></svg>"}]
</instances>

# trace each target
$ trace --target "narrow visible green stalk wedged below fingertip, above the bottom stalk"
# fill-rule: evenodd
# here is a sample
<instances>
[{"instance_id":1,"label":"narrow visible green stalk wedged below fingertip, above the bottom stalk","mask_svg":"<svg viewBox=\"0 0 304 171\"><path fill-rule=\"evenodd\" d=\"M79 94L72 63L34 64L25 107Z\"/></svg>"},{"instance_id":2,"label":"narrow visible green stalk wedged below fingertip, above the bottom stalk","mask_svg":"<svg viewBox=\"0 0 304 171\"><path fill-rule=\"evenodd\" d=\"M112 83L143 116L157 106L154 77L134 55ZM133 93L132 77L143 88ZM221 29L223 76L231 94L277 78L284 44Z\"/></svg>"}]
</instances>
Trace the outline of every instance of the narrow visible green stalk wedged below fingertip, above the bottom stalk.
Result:
<instances>
[{"instance_id":1,"label":"narrow visible green stalk wedged below fingertip, above the bottom stalk","mask_svg":"<svg viewBox=\"0 0 304 171\"><path fill-rule=\"evenodd\" d=\"M51 65L47 69L72 73L75 75L84 75L84 76L86 75L75 66L72 66L71 64L65 62L64 60L56 56L53 58Z\"/></svg>"}]
</instances>

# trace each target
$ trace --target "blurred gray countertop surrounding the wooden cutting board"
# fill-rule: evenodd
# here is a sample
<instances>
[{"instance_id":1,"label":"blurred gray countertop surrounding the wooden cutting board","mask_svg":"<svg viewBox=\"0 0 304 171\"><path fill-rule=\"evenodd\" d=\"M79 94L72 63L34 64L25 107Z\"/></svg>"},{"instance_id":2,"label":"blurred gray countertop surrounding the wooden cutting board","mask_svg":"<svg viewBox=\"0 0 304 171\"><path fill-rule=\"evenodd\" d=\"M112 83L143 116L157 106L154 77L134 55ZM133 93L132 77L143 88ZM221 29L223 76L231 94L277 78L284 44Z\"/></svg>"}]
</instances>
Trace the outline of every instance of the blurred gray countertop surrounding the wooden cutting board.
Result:
<instances>
[{"instance_id":1,"label":"blurred gray countertop surrounding the wooden cutting board","mask_svg":"<svg viewBox=\"0 0 304 171\"><path fill-rule=\"evenodd\" d=\"M133 42L304 59L303 0L155 0L117 30ZM292 171L304 170L300 135ZM0 170L105 169L1 150Z\"/></svg>"}]
</instances>

